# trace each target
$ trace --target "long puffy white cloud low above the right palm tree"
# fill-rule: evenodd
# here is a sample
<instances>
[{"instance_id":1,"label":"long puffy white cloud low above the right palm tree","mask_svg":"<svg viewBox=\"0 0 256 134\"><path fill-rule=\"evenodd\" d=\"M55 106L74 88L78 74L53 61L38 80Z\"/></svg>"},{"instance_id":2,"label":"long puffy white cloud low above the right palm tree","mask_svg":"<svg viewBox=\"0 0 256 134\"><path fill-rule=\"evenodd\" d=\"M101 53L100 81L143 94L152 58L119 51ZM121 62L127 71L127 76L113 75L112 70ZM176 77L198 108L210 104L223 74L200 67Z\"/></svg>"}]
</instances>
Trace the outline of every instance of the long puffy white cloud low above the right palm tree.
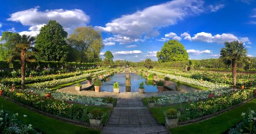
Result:
<instances>
[{"instance_id":1,"label":"long puffy white cloud low above the right palm tree","mask_svg":"<svg viewBox=\"0 0 256 134\"><path fill-rule=\"evenodd\" d=\"M190 37L189 34L186 34L184 39L193 40L193 41L203 41L203 42L208 42L208 43L215 42L215 43L219 43L219 44L222 44L225 41L234 41L234 40L239 40L239 41L243 41L243 42L250 41L248 37L237 37L237 36L234 36L233 34L229 34L229 33L212 35L211 33L205 33L205 32L197 33L193 37Z\"/></svg>"}]
</instances>

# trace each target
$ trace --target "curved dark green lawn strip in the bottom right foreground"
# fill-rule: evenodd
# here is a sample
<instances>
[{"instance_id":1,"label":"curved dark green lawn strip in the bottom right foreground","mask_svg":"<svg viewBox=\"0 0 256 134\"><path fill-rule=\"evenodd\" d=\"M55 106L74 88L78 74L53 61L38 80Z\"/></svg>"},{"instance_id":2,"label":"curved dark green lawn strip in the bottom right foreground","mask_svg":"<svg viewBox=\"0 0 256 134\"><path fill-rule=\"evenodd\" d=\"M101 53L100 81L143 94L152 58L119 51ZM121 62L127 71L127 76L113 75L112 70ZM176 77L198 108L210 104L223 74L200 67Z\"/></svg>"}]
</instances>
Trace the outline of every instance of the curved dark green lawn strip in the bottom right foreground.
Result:
<instances>
[{"instance_id":1,"label":"curved dark green lawn strip in the bottom right foreground","mask_svg":"<svg viewBox=\"0 0 256 134\"><path fill-rule=\"evenodd\" d=\"M223 133L242 121L241 113L246 113L248 108L256 110L256 99L246 104L233 108L214 118L170 129L171 133Z\"/></svg>"}]
</instances>

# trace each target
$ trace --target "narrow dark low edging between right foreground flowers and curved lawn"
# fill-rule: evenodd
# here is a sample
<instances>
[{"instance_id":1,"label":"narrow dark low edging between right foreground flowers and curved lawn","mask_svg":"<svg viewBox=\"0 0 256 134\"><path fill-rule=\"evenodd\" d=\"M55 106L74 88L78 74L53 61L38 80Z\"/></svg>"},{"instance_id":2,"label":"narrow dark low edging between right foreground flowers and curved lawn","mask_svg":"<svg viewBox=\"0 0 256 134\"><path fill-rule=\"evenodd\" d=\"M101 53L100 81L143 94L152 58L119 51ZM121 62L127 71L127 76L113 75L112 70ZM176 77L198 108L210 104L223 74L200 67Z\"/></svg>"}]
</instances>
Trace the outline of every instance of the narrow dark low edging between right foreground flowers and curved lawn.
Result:
<instances>
[{"instance_id":1,"label":"narrow dark low edging between right foreground flowers and curved lawn","mask_svg":"<svg viewBox=\"0 0 256 134\"><path fill-rule=\"evenodd\" d=\"M198 122L201 122L201 121L205 121L205 120L208 120L210 118L214 118L214 117L216 117L216 116L218 116L218 115L220 115L220 114L222 114L222 113L224 113L226 111L229 111L229 110L231 110L231 109L233 109L235 107L244 105L245 103L253 100L254 98L256 98L256 97L249 98L248 100L245 100L245 101L243 101L243 102L241 102L239 104L236 104L236 105L230 106L230 107L228 107L226 109L217 111L214 114L203 116L203 117L199 117L199 118L196 118L196 119L193 119L193 120L182 121L182 122L179 122L178 124L179 124L179 126L184 126L184 125L188 125L188 124L193 124L193 123L198 123Z\"/></svg>"}]
</instances>

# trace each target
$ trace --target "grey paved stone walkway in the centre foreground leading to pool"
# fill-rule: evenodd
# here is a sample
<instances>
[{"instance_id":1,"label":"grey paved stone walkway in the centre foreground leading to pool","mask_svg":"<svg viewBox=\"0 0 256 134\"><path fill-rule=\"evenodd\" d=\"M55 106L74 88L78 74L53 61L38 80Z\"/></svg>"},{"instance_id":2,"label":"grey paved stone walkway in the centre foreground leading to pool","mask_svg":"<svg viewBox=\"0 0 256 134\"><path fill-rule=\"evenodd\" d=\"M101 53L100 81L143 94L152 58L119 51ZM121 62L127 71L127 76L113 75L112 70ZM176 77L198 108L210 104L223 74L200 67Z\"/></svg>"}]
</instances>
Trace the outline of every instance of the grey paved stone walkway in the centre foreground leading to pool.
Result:
<instances>
[{"instance_id":1,"label":"grey paved stone walkway in the centre foreground leading to pool","mask_svg":"<svg viewBox=\"0 0 256 134\"><path fill-rule=\"evenodd\" d=\"M122 96L117 100L101 133L168 133L143 105L141 97Z\"/></svg>"}]
</instances>

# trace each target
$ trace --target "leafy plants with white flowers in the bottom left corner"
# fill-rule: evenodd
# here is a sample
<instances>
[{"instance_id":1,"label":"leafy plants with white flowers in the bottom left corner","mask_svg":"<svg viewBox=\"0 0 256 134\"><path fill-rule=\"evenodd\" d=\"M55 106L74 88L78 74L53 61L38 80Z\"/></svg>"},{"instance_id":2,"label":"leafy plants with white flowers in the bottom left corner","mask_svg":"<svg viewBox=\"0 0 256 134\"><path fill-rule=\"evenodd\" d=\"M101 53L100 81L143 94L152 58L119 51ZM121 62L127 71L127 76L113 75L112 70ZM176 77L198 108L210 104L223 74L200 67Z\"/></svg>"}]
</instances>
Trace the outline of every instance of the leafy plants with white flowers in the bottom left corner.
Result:
<instances>
[{"instance_id":1,"label":"leafy plants with white flowers in the bottom left corner","mask_svg":"<svg viewBox=\"0 0 256 134\"><path fill-rule=\"evenodd\" d=\"M27 115L18 115L18 113L10 114L9 111L0 108L0 133L37 133L31 124L26 125L19 121L18 116L27 117Z\"/></svg>"}]
</instances>

